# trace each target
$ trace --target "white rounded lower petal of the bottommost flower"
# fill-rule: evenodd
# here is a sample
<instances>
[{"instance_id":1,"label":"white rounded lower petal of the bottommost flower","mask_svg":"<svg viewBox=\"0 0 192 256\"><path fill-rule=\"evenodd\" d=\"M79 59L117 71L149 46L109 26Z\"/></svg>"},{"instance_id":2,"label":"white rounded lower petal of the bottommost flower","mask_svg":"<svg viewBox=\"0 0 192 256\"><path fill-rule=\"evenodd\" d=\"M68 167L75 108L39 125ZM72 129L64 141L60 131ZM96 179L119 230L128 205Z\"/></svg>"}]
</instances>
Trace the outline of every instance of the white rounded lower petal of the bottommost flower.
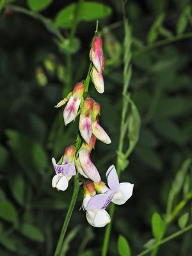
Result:
<instances>
[{"instance_id":1,"label":"white rounded lower petal of the bottommost flower","mask_svg":"<svg viewBox=\"0 0 192 256\"><path fill-rule=\"evenodd\" d=\"M104 227L111 221L108 212L105 210L97 212L86 211L86 219L90 225L97 228Z\"/></svg>"}]
</instances>

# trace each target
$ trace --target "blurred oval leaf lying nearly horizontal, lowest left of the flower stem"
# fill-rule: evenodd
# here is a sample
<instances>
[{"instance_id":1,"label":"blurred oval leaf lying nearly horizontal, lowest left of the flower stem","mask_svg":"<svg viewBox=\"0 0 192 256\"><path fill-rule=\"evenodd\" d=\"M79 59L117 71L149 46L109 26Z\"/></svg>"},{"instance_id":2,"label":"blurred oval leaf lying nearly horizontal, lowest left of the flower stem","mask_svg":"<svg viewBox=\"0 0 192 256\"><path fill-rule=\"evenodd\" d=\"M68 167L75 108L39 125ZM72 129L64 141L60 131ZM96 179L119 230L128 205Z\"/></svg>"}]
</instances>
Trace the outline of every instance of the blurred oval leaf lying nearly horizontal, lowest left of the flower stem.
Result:
<instances>
[{"instance_id":1,"label":"blurred oval leaf lying nearly horizontal, lowest left of the flower stem","mask_svg":"<svg viewBox=\"0 0 192 256\"><path fill-rule=\"evenodd\" d=\"M45 237L42 231L31 224L24 223L20 226L19 232L23 234L24 236L28 237L31 240L37 241L37 242L44 242Z\"/></svg>"}]
</instances>

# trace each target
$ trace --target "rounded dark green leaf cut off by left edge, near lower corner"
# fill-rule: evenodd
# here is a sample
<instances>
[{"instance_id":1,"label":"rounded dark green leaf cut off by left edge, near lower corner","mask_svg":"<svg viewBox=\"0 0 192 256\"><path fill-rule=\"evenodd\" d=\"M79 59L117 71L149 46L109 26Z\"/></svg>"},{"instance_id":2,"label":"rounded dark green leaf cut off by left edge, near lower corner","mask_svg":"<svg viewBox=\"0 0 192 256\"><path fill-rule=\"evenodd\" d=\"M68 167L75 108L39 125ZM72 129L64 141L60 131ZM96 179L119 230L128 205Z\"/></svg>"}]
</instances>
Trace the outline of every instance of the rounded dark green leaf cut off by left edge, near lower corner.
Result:
<instances>
[{"instance_id":1,"label":"rounded dark green leaf cut off by left edge, near lower corner","mask_svg":"<svg viewBox=\"0 0 192 256\"><path fill-rule=\"evenodd\" d=\"M10 201L4 200L0 202L0 218L12 223L17 222L17 211Z\"/></svg>"}]
</instances>

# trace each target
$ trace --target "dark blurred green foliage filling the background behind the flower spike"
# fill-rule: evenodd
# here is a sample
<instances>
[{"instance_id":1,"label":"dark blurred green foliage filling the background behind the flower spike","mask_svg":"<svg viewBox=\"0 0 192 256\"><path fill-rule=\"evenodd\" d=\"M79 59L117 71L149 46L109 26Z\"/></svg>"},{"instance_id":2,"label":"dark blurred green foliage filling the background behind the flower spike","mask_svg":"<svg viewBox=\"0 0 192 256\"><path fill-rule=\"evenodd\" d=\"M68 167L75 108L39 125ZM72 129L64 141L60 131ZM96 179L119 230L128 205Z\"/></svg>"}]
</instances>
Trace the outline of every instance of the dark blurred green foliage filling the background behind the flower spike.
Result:
<instances>
[{"instance_id":1,"label":"dark blurred green foliage filling the background behind the flower spike","mask_svg":"<svg viewBox=\"0 0 192 256\"><path fill-rule=\"evenodd\" d=\"M65 127L62 109L53 107L63 99L63 92L66 96L86 77L97 19L106 56L106 92L99 95L91 86L90 93L101 104L100 122L112 143L98 141L92 160L103 179L109 165L115 164L124 83L122 7L115 0L84 1L76 16L78 3L0 1L3 256L53 255L72 182L65 193L52 189L51 157L60 159L76 139L78 127L77 120ZM191 10L189 0L137 0L125 5L132 30L132 75L127 79L131 79L129 92L141 116L141 129L122 173L121 180L134 184L134 193L115 211L111 256L125 255L129 246L136 255L192 220ZM134 131L133 121L129 128ZM104 228L88 226L85 214L79 212L81 202L82 191L62 255L100 255ZM191 236L189 231L153 253L191 255Z\"/></svg>"}]
</instances>

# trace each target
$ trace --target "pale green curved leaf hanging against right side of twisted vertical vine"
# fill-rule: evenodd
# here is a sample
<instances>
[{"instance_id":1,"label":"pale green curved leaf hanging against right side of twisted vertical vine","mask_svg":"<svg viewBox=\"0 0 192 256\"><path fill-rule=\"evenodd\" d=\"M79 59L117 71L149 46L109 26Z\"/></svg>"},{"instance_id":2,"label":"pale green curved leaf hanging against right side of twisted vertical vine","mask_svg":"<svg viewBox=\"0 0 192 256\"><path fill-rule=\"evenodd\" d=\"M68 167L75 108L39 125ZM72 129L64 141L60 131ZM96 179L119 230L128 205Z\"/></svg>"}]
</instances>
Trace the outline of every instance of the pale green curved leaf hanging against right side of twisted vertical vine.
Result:
<instances>
[{"instance_id":1,"label":"pale green curved leaf hanging against right side of twisted vertical vine","mask_svg":"<svg viewBox=\"0 0 192 256\"><path fill-rule=\"evenodd\" d=\"M139 134L140 134L140 113L136 108L134 102L130 100L131 103L131 111L128 116L128 138L129 138L129 148L127 150L127 155L131 154L133 148L138 142Z\"/></svg>"}]
</instances>

